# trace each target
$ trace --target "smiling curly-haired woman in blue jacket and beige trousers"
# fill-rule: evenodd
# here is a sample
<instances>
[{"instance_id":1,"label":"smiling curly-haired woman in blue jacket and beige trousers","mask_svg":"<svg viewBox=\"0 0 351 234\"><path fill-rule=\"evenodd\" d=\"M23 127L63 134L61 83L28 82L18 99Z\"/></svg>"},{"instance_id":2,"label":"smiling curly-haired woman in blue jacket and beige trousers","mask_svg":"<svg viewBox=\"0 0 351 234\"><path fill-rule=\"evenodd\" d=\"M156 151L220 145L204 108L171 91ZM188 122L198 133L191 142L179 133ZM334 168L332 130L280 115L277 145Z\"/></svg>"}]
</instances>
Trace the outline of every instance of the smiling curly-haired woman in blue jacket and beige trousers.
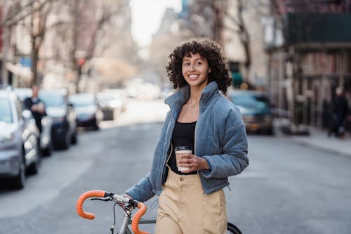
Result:
<instances>
[{"instance_id":1,"label":"smiling curly-haired woman in blue jacket and beige trousers","mask_svg":"<svg viewBox=\"0 0 351 234\"><path fill-rule=\"evenodd\" d=\"M231 84L226 58L210 39L192 39L168 58L176 93L154 151L150 173L126 191L144 202L159 195L157 234L225 233L223 188L228 176L249 165L245 126L239 109L225 98ZM176 162L174 149L190 146ZM187 167L178 171L178 167Z\"/></svg>"}]
</instances>

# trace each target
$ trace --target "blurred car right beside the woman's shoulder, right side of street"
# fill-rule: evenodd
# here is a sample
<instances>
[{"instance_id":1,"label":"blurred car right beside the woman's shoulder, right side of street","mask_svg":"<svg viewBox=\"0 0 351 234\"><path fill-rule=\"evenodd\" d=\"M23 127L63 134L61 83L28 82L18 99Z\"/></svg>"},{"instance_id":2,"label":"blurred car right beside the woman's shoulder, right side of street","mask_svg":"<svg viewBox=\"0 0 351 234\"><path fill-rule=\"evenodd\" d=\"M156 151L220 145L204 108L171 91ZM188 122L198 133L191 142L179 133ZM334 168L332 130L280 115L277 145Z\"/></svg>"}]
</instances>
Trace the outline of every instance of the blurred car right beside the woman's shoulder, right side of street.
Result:
<instances>
[{"instance_id":1,"label":"blurred car right beside the woman's shoulder, right side of street","mask_svg":"<svg viewBox=\"0 0 351 234\"><path fill-rule=\"evenodd\" d=\"M231 90L227 98L239 108L248 133L274 133L271 106L264 93Z\"/></svg>"}]
</instances>

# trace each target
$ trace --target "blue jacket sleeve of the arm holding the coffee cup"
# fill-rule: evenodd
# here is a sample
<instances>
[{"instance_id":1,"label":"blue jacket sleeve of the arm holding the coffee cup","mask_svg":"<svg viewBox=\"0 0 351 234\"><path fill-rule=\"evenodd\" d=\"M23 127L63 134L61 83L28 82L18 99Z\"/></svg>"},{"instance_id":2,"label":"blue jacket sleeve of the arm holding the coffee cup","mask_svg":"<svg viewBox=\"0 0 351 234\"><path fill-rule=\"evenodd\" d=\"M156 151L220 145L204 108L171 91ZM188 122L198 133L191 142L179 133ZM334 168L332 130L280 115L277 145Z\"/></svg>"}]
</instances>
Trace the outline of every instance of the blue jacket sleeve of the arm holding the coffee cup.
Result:
<instances>
[{"instance_id":1,"label":"blue jacket sleeve of the arm holding the coffee cup","mask_svg":"<svg viewBox=\"0 0 351 234\"><path fill-rule=\"evenodd\" d=\"M204 178L234 176L249 166L246 130L239 110L232 109L224 123L224 134L220 140L221 154L203 156L210 167L208 170L201 171Z\"/></svg>"}]
</instances>

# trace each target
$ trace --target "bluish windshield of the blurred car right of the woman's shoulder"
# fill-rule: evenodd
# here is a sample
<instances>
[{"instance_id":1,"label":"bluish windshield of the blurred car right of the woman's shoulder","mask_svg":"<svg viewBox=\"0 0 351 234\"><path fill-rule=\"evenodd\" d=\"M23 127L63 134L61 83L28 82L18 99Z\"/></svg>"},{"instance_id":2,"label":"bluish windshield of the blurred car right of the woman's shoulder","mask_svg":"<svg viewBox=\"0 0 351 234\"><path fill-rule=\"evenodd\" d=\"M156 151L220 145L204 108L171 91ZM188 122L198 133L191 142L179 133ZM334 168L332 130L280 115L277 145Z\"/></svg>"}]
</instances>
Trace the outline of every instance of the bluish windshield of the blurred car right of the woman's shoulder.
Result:
<instances>
[{"instance_id":1,"label":"bluish windshield of the blurred car right of the woman's shoulder","mask_svg":"<svg viewBox=\"0 0 351 234\"><path fill-rule=\"evenodd\" d=\"M232 97L232 102L235 105L242 106L244 108L252 109L265 109L269 108L267 98L265 96L258 95L238 95Z\"/></svg>"}]
</instances>

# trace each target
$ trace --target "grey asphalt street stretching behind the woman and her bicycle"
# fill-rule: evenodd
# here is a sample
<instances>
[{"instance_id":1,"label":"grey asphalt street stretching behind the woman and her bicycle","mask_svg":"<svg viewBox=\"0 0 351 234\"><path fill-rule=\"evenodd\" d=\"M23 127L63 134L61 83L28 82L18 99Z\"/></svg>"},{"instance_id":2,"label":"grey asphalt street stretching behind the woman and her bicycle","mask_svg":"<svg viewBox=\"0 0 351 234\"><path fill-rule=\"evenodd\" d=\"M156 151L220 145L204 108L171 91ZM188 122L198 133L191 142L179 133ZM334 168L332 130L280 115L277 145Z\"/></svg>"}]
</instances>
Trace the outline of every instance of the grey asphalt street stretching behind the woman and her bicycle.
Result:
<instances>
[{"instance_id":1,"label":"grey asphalt street stretching behind the woman and her bicycle","mask_svg":"<svg viewBox=\"0 0 351 234\"><path fill-rule=\"evenodd\" d=\"M131 102L116 122L102 123L100 131L82 131L78 145L44 158L25 189L1 186L0 234L108 233L111 203L88 201L84 209L96 215L88 221L76 214L75 202L86 190L123 193L145 176L164 110L159 102ZM281 136L250 135L249 159L250 166L230 178L231 191L225 188L229 220L242 233L350 234L349 157ZM147 216L154 216L157 197L147 205ZM120 211L117 218L121 221Z\"/></svg>"}]
</instances>

